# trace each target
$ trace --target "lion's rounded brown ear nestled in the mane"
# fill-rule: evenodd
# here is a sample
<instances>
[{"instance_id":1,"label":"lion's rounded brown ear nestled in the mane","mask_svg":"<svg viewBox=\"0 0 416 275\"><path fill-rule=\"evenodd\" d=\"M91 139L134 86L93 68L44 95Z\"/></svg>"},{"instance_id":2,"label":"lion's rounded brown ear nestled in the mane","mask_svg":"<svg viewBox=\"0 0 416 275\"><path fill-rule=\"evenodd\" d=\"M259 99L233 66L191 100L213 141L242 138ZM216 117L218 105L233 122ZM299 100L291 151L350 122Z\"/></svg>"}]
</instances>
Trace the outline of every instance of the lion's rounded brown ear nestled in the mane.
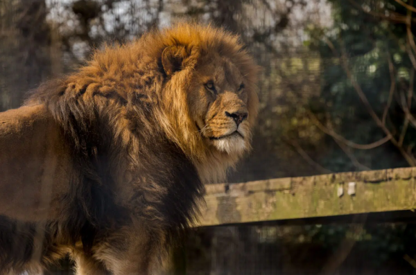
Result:
<instances>
[{"instance_id":1,"label":"lion's rounded brown ear nestled in the mane","mask_svg":"<svg viewBox=\"0 0 416 275\"><path fill-rule=\"evenodd\" d=\"M176 71L180 71L187 55L187 50L183 46L165 48L162 53L162 66L166 76L172 76Z\"/></svg>"}]
</instances>

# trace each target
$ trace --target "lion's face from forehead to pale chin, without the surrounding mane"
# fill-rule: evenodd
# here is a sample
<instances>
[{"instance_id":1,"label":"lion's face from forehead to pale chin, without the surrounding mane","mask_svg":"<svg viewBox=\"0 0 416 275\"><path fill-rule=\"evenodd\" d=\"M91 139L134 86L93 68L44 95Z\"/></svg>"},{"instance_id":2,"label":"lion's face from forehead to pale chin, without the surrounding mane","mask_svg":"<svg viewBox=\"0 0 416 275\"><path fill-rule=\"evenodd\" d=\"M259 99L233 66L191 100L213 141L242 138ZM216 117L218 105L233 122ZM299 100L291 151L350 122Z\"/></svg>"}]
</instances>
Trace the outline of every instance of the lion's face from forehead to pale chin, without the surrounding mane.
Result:
<instances>
[{"instance_id":1,"label":"lion's face from forehead to pale chin, without the surrounding mane","mask_svg":"<svg viewBox=\"0 0 416 275\"><path fill-rule=\"evenodd\" d=\"M200 136L216 150L241 154L250 148L249 87L227 57L210 55L193 72L188 100Z\"/></svg>"}]
</instances>

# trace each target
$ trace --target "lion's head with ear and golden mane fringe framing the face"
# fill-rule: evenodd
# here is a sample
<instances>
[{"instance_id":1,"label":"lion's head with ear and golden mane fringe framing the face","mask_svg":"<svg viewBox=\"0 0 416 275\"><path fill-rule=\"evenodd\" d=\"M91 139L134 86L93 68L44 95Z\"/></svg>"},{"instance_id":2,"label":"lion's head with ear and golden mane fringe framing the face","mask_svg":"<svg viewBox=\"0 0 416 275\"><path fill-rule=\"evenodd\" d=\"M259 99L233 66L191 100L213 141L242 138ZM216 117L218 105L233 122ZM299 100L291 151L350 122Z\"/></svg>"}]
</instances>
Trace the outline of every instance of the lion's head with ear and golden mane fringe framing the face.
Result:
<instances>
[{"instance_id":1,"label":"lion's head with ear and golden mane fringe framing the face","mask_svg":"<svg viewBox=\"0 0 416 275\"><path fill-rule=\"evenodd\" d=\"M188 32L178 37L183 33ZM201 37L203 43L195 46ZM204 30L183 44L164 48L159 63L166 76L160 101L170 123L166 129L184 152L205 161L203 177L217 173L211 178L223 178L223 168L234 166L250 149L258 68L236 37L226 33Z\"/></svg>"}]
</instances>

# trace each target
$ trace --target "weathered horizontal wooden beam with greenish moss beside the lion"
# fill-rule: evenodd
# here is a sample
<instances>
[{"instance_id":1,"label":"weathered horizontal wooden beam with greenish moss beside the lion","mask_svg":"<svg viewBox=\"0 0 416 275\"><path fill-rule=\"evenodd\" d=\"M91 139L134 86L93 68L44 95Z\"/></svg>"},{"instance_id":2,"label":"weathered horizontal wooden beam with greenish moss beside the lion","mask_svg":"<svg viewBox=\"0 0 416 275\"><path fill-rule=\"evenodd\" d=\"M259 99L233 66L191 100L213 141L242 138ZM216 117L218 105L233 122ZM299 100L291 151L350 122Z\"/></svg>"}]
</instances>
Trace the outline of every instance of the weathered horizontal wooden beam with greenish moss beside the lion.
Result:
<instances>
[{"instance_id":1,"label":"weathered horizontal wooden beam with greenish moss beside the lion","mask_svg":"<svg viewBox=\"0 0 416 275\"><path fill-rule=\"evenodd\" d=\"M416 168L207 185L197 226L413 211Z\"/></svg>"}]
</instances>

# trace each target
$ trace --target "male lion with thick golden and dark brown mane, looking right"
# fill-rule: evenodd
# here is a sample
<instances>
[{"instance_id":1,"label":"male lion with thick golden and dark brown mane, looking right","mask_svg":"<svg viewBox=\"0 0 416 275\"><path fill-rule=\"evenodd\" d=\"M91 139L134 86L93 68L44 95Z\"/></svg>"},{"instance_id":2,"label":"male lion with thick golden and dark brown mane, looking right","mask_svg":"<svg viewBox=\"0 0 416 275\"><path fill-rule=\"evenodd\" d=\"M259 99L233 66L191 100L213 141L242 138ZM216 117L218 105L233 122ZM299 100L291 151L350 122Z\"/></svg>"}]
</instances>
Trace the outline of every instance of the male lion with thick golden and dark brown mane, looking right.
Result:
<instances>
[{"instance_id":1,"label":"male lion with thick golden and dark brown mane, looking right","mask_svg":"<svg viewBox=\"0 0 416 275\"><path fill-rule=\"evenodd\" d=\"M0 274L157 274L204 186L250 148L257 66L181 23L97 52L0 114Z\"/></svg>"}]
</instances>

